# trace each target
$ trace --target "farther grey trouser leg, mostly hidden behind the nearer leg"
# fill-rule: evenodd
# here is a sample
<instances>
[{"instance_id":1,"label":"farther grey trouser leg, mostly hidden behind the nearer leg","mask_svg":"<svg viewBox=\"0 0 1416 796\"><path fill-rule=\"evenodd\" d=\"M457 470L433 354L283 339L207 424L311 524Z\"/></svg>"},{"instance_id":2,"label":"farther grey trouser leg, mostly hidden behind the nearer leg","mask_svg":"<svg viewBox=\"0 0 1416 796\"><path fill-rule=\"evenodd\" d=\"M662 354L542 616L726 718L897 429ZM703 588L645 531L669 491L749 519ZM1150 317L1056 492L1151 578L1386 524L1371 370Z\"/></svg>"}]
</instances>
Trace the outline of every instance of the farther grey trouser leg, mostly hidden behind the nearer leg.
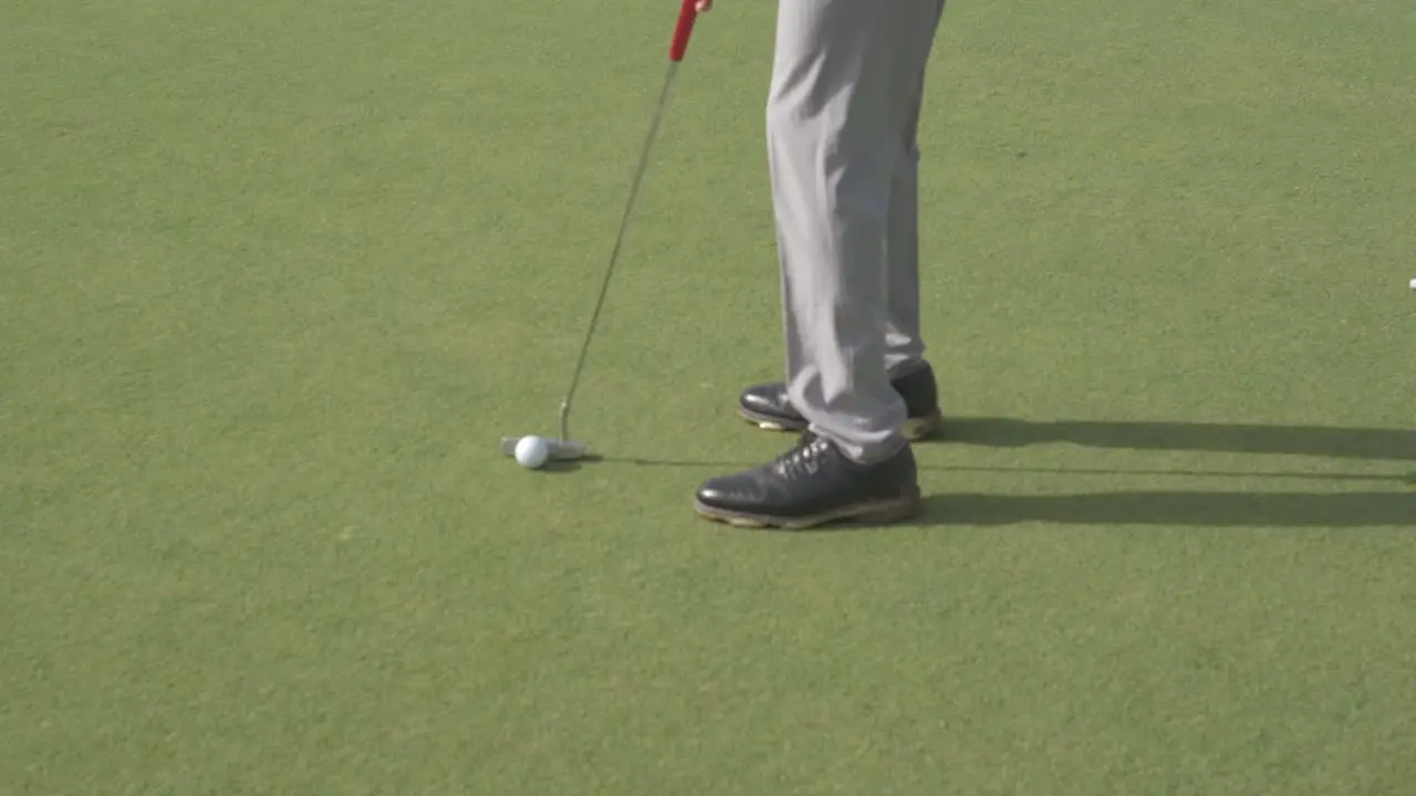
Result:
<instances>
[{"instance_id":1,"label":"farther grey trouser leg, mostly hidden behind the nearer leg","mask_svg":"<svg viewBox=\"0 0 1416 796\"><path fill-rule=\"evenodd\" d=\"M905 123L899 136L901 154L891 178L889 215L886 220L885 262L889 313L885 333L885 367L891 377L909 373L925 361L925 341L919 324L919 110L925 96L925 65L933 47L935 30L943 13L943 0L926 0L933 10L929 24L912 33L899 89L905 92Z\"/></svg>"}]
</instances>

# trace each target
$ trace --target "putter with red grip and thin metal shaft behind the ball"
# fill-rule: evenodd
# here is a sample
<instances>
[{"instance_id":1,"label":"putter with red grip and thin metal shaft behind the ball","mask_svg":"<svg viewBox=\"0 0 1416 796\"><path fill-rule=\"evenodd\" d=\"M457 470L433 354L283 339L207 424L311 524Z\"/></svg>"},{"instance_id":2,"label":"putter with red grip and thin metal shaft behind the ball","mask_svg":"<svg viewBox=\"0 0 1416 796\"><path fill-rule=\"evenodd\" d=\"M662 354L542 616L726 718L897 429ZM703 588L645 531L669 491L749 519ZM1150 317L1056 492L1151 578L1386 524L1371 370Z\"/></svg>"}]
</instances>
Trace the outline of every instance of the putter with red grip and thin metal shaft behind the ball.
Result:
<instances>
[{"instance_id":1,"label":"putter with red grip and thin metal shaft behind the ball","mask_svg":"<svg viewBox=\"0 0 1416 796\"><path fill-rule=\"evenodd\" d=\"M692 34L697 20L698 0L683 0L678 7L678 23L674 25L674 38L668 45L668 74L664 75L664 88L658 92L658 105L654 108L649 135L644 137L644 146L639 154L639 166L634 169L634 180L630 183L629 201L624 203L624 215L620 218L619 232L615 235L615 248L610 251L610 262L605 269L605 280L600 283L600 296L595 302L595 312L590 314L590 324L585 331L585 341L581 344L581 356L575 363L575 371L571 374L571 387L565 391L565 398L561 401L561 436L547 440L549 442L551 460L554 462L583 459L590 452L590 446L585 442L571 439L571 402L575 399L575 390L581 384L581 371L585 368L585 357L590 350L590 340L595 337L600 310L605 307L605 296L609 293L610 278L615 276L615 263L619 262L620 246L624 242L624 229L629 227L629 218L634 211L634 198L639 197L639 186L644 181L644 171L649 167L649 153L654 147L658 123L664 118L664 106L668 105L668 89L674 85L678 64L683 62L684 55L688 52L688 37ZM501 438L501 453L515 456L517 442L520 440L520 436Z\"/></svg>"}]
</instances>

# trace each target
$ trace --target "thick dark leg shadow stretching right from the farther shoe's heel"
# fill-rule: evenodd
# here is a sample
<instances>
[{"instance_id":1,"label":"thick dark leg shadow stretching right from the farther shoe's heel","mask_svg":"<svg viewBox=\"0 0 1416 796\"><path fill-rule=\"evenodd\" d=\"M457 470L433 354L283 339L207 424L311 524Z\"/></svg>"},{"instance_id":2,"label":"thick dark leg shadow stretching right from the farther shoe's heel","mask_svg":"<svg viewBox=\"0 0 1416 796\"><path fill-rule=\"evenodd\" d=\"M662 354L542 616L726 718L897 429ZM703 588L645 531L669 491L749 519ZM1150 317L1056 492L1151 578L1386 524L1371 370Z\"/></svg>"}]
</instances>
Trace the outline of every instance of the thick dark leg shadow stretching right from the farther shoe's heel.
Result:
<instances>
[{"instance_id":1,"label":"thick dark leg shadow stretching right from the farther shoe's heel","mask_svg":"<svg viewBox=\"0 0 1416 796\"><path fill-rule=\"evenodd\" d=\"M1416 431L1412 429L964 416L952 418L943 436L946 442L990 448L1070 443L1133 450L1416 460Z\"/></svg>"}]
</instances>

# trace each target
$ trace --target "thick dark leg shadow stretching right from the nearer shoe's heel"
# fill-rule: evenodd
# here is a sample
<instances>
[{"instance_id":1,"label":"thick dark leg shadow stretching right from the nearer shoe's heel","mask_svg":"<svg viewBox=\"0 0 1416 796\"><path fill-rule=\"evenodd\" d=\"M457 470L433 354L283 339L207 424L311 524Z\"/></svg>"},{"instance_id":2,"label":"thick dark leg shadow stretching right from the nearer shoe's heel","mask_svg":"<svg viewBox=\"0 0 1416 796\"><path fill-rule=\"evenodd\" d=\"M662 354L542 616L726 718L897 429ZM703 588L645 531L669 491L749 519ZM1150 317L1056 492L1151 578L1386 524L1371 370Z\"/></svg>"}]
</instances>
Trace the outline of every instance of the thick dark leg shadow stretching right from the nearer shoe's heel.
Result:
<instances>
[{"instance_id":1,"label":"thick dark leg shadow stretching right from the nearer shoe's heel","mask_svg":"<svg viewBox=\"0 0 1416 796\"><path fill-rule=\"evenodd\" d=\"M1416 491L933 494L910 525L1416 527Z\"/></svg>"}]
</instances>

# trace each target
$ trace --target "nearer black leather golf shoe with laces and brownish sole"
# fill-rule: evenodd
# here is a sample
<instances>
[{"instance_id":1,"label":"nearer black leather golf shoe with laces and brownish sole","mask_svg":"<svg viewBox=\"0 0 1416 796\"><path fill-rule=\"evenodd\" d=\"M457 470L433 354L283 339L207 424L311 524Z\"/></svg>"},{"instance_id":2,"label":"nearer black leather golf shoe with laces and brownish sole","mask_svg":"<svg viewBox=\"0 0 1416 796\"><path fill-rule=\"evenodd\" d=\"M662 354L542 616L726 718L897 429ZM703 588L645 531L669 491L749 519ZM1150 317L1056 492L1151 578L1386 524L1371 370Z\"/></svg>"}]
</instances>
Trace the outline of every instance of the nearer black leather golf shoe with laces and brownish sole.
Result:
<instances>
[{"instance_id":1,"label":"nearer black leather golf shoe with laces and brownish sole","mask_svg":"<svg viewBox=\"0 0 1416 796\"><path fill-rule=\"evenodd\" d=\"M858 465L811 432L766 465L709 479L694 500L698 514L746 528L810 528L841 520L886 524L918 508L919 480L908 445L884 462Z\"/></svg>"}]
</instances>

